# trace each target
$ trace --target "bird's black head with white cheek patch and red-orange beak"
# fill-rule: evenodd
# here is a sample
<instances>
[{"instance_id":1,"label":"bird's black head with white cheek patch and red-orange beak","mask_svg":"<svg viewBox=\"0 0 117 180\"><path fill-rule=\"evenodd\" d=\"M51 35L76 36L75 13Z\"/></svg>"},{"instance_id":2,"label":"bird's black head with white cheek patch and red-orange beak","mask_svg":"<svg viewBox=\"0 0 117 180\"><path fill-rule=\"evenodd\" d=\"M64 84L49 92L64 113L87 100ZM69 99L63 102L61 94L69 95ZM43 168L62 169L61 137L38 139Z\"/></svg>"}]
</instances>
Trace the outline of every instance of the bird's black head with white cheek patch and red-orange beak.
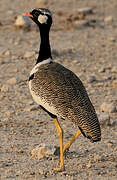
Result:
<instances>
[{"instance_id":1,"label":"bird's black head with white cheek patch and red-orange beak","mask_svg":"<svg viewBox=\"0 0 117 180\"><path fill-rule=\"evenodd\" d=\"M25 14L25 16L30 17L40 28L51 27L52 14L48 9L44 9L44 8L34 9L30 13Z\"/></svg>"}]
</instances>

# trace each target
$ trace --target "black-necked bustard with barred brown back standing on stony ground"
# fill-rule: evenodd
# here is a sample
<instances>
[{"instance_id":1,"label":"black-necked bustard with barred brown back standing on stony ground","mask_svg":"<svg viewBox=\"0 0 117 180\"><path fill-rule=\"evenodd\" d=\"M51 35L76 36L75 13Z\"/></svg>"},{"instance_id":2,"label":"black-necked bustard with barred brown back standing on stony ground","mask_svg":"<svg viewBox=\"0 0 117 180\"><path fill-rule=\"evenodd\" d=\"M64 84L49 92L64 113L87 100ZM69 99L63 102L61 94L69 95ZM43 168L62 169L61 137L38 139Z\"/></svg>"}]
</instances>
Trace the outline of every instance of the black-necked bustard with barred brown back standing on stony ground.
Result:
<instances>
[{"instance_id":1,"label":"black-necked bustard with barred brown back standing on stony ground","mask_svg":"<svg viewBox=\"0 0 117 180\"><path fill-rule=\"evenodd\" d=\"M40 31L40 49L29 76L29 89L34 101L55 123L60 141L60 166L54 170L63 171L64 153L80 134L91 142L101 140L100 123L80 78L52 58L49 40L52 12L45 8L36 8L25 16L31 18ZM78 127L77 133L65 146L64 132L58 119L69 120Z\"/></svg>"}]
</instances>

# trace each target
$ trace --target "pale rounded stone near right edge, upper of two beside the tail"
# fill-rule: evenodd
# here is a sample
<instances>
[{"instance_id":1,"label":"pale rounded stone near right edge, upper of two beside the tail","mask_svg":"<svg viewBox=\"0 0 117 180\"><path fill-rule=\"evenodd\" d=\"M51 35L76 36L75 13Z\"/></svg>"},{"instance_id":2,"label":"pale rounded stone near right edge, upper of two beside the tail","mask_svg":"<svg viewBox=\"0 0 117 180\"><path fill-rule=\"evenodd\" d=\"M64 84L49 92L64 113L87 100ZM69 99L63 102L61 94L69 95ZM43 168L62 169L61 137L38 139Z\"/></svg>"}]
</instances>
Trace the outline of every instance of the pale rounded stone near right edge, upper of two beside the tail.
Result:
<instances>
[{"instance_id":1,"label":"pale rounded stone near right edge, upper of two beside the tail","mask_svg":"<svg viewBox=\"0 0 117 180\"><path fill-rule=\"evenodd\" d=\"M116 112L116 106L114 103L104 102L100 106L100 110L102 112L114 113L114 112Z\"/></svg>"}]
</instances>

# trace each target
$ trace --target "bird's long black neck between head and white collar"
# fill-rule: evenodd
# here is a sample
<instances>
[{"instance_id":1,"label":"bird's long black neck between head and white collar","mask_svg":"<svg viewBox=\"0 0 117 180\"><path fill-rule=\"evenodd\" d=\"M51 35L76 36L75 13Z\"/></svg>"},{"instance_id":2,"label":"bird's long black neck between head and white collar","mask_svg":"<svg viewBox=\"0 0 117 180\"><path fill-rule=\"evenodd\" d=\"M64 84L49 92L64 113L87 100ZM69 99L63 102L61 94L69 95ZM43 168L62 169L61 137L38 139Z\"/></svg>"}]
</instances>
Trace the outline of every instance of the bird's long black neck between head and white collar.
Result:
<instances>
[{"instance_id":1,"label":"bird's long black neck between head and white collar","mask_svg":"<svg viewBox=\"0 0 117 180\"><path fill-rule=\"evenodd\" d=\"M41 38L40 50L36 64L48 58L52 58L50 42L49 42L49 30L44 28L40 29L40 38Z\"/></svg>"}]
</instances>

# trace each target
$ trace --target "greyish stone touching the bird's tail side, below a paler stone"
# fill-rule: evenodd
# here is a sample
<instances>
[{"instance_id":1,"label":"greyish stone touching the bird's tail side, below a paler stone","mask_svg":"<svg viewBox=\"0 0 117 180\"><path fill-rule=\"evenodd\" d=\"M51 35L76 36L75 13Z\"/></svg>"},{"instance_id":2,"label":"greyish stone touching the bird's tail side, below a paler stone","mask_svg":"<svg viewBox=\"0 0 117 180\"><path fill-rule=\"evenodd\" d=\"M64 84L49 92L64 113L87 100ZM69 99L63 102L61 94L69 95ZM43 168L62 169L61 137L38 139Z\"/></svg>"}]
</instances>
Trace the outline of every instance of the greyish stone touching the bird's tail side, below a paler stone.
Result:
<instances>
[{"instance_id":1,"label":"greyish stone touching the bird's tail side, below a paler stone","mask_svg":"<svg viewBox=\"0 0 117 180\"><path fill-rule=\"evenodd\" d=\"M111 124L109 114L102 112L97 115L101 126L108 126Z\"/></svg>"}]
</instances>

